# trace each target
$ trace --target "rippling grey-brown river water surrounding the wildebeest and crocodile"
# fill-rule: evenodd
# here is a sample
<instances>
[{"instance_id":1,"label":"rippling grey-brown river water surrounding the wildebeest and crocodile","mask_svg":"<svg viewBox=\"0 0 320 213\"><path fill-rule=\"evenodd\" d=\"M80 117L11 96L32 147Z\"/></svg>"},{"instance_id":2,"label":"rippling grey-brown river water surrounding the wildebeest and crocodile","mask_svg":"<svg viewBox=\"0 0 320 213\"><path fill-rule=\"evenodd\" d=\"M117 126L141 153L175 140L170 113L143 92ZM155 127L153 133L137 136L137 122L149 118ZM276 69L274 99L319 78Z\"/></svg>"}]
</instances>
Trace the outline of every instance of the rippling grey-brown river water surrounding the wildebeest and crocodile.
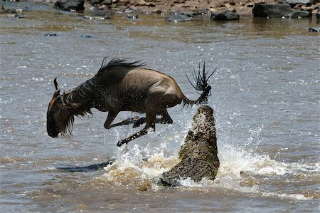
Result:
<instances>
[{"instance_id":1,"label":"rippling grey-brown river water surrounding the wildebeest and crocodile","mask_svg":"<svg viewBox=\"0 0 320 213\"><path fill-rule=\"evenodd\" d=\"M319 212L319 34L315 19L252 19L168 23L165 16L84 19L41 4L23 19L1 18L1 212ZM45 36L55 33L56 36ZM177 155L197 107L169 109L172 125L127 146L132 125L105 130L107 113L76 118L73 137L46 133L46 110L58 77L74 88L102 59L132 58L186 80L199 61L218 69L210 80L220 170L215 181L157 185ZM120 113L117 121L137 115ZM148 159L147 161L143 159ZM65 172L61 165L93 165Z\"/></svg>"}]
</instances>

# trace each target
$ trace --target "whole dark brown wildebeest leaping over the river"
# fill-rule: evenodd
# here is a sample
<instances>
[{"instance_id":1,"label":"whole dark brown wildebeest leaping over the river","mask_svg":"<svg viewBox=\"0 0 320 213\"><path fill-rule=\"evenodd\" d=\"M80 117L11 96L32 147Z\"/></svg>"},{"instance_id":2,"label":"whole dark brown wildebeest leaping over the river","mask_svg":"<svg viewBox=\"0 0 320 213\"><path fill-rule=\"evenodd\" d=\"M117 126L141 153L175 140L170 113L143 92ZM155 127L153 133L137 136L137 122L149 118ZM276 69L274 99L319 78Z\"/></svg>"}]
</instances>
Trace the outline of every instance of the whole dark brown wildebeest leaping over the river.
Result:
<instances>
[{"instance_id":1,"label":"whole dark brown wildebeest leaping over the river","mask_svg":"<svg viewBox=\"0 0 320 213\"><path fill-rule=\"evenodd\" d=\"M183 105L207 103L211 87L208 79L215 71L206 71L205 63L198 73L193 70L196 85L191 83L201 95L196 100L190 100L183 95L176 81L159 71L142 68L140 61L128 62L126 59L114 58L107 63L107 57L90 80L78 87L60 94L57 79L53 80L55 93L50 100L47 111L47 132L51 137L71 135L74 116L84 116L91 113L91 108L108 112L105 128L134 123L134 128L146 123L138 133L120 140L117 146L126 144L137 137L146 135L148 130L155 130L155 123L173 123L166 108ZM121 111L146 113L146 118L128 118L120 123L112 124ZM158 115L158 116L157 116Z\"/></svg>"}]
</instances>

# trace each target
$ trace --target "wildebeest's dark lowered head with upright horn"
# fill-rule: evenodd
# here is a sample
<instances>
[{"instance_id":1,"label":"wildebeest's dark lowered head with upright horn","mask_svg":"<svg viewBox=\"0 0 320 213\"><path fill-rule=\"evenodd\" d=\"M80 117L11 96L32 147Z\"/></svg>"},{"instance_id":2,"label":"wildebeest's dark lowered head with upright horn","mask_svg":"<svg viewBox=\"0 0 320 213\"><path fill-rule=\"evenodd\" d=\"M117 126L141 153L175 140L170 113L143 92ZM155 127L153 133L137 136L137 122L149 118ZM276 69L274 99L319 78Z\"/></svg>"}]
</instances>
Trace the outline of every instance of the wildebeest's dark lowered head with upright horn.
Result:
<instances>
[{"instance_id":1,"label":"wildebeest's dark lowered head with upright horn","mask_svg":"<svg viewBox=\"0 0 320 213\"><path fill-rule=\"evenodd\" d=\"M51 137L57 137L59 133L63 136L71 135L74 121L73 110L79 107L79 103L69 103L65 93L60 95L57 78L53 80L55 93L50 100L47 111L47 132Z\"/></svg>"}]
</instances>

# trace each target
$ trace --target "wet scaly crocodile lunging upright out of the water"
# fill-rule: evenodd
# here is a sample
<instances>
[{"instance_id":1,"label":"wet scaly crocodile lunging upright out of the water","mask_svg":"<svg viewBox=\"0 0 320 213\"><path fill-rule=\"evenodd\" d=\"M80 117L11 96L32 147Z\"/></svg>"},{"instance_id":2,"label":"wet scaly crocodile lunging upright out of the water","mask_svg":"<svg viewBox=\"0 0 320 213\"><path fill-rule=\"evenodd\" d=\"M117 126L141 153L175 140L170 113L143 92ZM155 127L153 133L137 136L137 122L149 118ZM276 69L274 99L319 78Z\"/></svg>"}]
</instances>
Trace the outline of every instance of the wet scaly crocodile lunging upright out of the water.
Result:
<instances>
[{"instance_id":1,"label":"wet scaly crocodile lunging upright out of the water","mask_svg":"<svg viewBox=\"0 0 320 213\"><path fill-rule=\"evenodd\" d=\"M213 109L208 105L198 108L194 115L192 128L179 151L179 158L181 162L161 175L160 184L178 186L179 180L186 180L188 177L195 182L201 181L203 177L215 179L220 162Z\"/></svg>"}]
</instances>

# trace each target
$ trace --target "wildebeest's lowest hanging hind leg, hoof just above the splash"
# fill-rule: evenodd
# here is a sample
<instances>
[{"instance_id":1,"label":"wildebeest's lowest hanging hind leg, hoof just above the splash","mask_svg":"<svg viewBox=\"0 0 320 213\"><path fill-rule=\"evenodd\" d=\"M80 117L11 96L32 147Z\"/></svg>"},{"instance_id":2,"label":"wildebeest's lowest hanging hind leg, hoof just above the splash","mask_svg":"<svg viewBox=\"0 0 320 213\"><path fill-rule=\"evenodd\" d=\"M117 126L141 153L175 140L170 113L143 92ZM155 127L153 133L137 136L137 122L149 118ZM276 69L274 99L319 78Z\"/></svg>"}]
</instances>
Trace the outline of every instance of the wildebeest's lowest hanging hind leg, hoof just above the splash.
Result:
<instances>
[{"instance_id":1,"label":"wildebeest's lowest hanging hind leg, hoof just above the splash","mask_svg":"<svg viewBox=\"0 0 320 213\"><path fill-rule=\"evenodd\" d=\"M120 140L117 143L117 146L120 147L120 146L128 143L129 141L136 139L137 137L141 137L142 135L146 135L149 132L149 130L155 131L156 130L155 120L156 120L156 113L151 108L151 110L148 110L146 112L146 126L142 130L140 130L138 133L135 133L134 135L131 135L130 137L127 137L124 140Z\"/></svg>"}]
</instances>

